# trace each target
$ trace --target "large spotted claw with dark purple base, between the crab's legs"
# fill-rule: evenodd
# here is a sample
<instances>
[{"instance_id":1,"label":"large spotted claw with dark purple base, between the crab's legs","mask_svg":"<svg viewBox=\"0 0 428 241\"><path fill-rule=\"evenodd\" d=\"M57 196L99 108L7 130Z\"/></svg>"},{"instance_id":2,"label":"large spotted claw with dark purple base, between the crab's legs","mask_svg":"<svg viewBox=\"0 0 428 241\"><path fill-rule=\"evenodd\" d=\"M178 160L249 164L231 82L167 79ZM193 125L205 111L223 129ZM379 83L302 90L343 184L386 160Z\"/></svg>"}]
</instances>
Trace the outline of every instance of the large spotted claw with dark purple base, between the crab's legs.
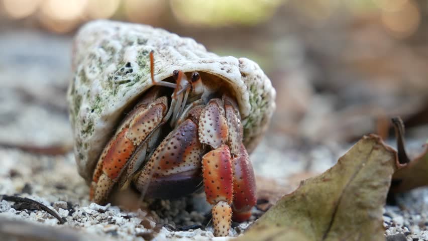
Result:
<instances>
[{"instance_id":1,"label":"large spotted claw with dark purple base, between the crab's legs","mask_svg":"<svg viewBox=\"0 0 428 241\"><path fill-rule=\"evenodd\" d=\"M187 119L158 146L134 183L147 196L172 198L189 194L201 182L202 145L197 136L200 107L189 111ZM195 123L196 122L196 123Z\"/></svg>"}]
</instances>

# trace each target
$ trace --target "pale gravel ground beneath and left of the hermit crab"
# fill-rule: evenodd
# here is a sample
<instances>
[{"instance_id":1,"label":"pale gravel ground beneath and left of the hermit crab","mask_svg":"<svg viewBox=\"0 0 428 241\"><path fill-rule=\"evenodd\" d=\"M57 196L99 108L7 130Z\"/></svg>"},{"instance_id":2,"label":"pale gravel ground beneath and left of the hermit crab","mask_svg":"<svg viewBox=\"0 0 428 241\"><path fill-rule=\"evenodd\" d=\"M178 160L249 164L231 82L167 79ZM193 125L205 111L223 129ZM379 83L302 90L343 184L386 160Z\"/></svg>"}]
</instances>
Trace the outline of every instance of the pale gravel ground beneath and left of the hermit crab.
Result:
<instances>
[{"instance_id":1,"label":"pale gravel ground beneath and left of the hermit crab","mask_svg":"<svg viewBox=\"0 0 428 241\"><path fill-rule=\"evenodd\" d=\"M88 201L88 187L77 174L71 154L55 157L0 149L0 156L5 167L0 173L0 194L41 202L65 219L66 226L120 240L213 239L212 227L205 227L209 205L203 193L177 200L149 200L134 211L110 203L102 206ZM5 200L0 201L0 222L2 218L59 225L45 211L20 209ZM239 235L248 225L235 225L230 236Z\"/></svg>"}]
</instances>

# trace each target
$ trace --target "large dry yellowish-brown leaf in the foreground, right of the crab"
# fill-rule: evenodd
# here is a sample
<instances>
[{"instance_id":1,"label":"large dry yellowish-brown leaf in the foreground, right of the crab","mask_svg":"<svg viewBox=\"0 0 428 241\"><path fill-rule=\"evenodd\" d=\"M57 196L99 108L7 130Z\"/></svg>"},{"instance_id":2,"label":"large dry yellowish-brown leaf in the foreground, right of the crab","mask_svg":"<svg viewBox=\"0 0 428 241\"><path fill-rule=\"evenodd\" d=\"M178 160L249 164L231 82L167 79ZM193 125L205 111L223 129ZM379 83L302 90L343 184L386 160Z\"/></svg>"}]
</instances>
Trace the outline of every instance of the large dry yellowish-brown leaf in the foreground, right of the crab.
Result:
<instances>
[{"instance_id":1,"label":"large dry yellowish-brown leaf in the foreground, right of the crab","mask_svg":"<svg viewBox=\"0 0 428 241\"><path fill-rule=\"evenodd\" d=\"M378 136L363 137L334 167L282 197L242 240L384 240L396 156Z\"/></svg>"}]
</instances>

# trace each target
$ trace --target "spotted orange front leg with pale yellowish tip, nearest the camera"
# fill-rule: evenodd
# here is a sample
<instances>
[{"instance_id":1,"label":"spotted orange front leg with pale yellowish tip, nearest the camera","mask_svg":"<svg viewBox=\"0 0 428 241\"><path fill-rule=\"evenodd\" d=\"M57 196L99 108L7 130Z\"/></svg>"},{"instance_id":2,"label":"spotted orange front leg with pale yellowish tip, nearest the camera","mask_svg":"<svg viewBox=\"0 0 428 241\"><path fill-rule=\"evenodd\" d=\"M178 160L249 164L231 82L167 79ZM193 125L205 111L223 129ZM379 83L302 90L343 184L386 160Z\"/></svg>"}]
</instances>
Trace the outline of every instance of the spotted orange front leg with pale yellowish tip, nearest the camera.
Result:
<instances>
[{"instance_id":1,"label":"spotted orange front leg with pale yellowish tip, nearest the camera","mask_svg":"<svg viewBox=\"0 0 428 241\"><path fill-rule=\"evenodd\" d=\"M214 235L226 236L232 219L233 169L229 147L225 145L229 128L220 99L211 99L199 119L199 140L214 150L202 157L202 176L206 200L213 204Z\"/></svg>"}]
</instances>

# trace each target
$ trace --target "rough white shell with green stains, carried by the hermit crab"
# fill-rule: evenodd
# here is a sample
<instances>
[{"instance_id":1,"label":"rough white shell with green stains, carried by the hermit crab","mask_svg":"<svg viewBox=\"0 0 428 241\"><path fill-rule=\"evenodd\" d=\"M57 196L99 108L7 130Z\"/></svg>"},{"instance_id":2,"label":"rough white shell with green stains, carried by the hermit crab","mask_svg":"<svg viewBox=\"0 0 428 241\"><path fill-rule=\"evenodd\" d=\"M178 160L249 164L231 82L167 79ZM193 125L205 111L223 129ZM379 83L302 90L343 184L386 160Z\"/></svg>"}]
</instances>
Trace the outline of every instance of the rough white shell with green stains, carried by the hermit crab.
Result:
<instances>
[{"instance_id":1,"label":"rough white shell with green stains, carried by the hermit crab","mask_svg":"<svg viewBox=\"0 0 428 241\"><path fill-rule=\"evenodd\" d=\"M244 144L251 151L266 131L275 109L275 89L260 67L246 58L219 57L193 39L150 26L93 21L77 33L68 89L74 153L79 173L89 181L99 154L126 108L152 86L149 53L154 51L155 79L175 69L199 71L227 81L238 101Z\"/></svg>"}]
</instances>

